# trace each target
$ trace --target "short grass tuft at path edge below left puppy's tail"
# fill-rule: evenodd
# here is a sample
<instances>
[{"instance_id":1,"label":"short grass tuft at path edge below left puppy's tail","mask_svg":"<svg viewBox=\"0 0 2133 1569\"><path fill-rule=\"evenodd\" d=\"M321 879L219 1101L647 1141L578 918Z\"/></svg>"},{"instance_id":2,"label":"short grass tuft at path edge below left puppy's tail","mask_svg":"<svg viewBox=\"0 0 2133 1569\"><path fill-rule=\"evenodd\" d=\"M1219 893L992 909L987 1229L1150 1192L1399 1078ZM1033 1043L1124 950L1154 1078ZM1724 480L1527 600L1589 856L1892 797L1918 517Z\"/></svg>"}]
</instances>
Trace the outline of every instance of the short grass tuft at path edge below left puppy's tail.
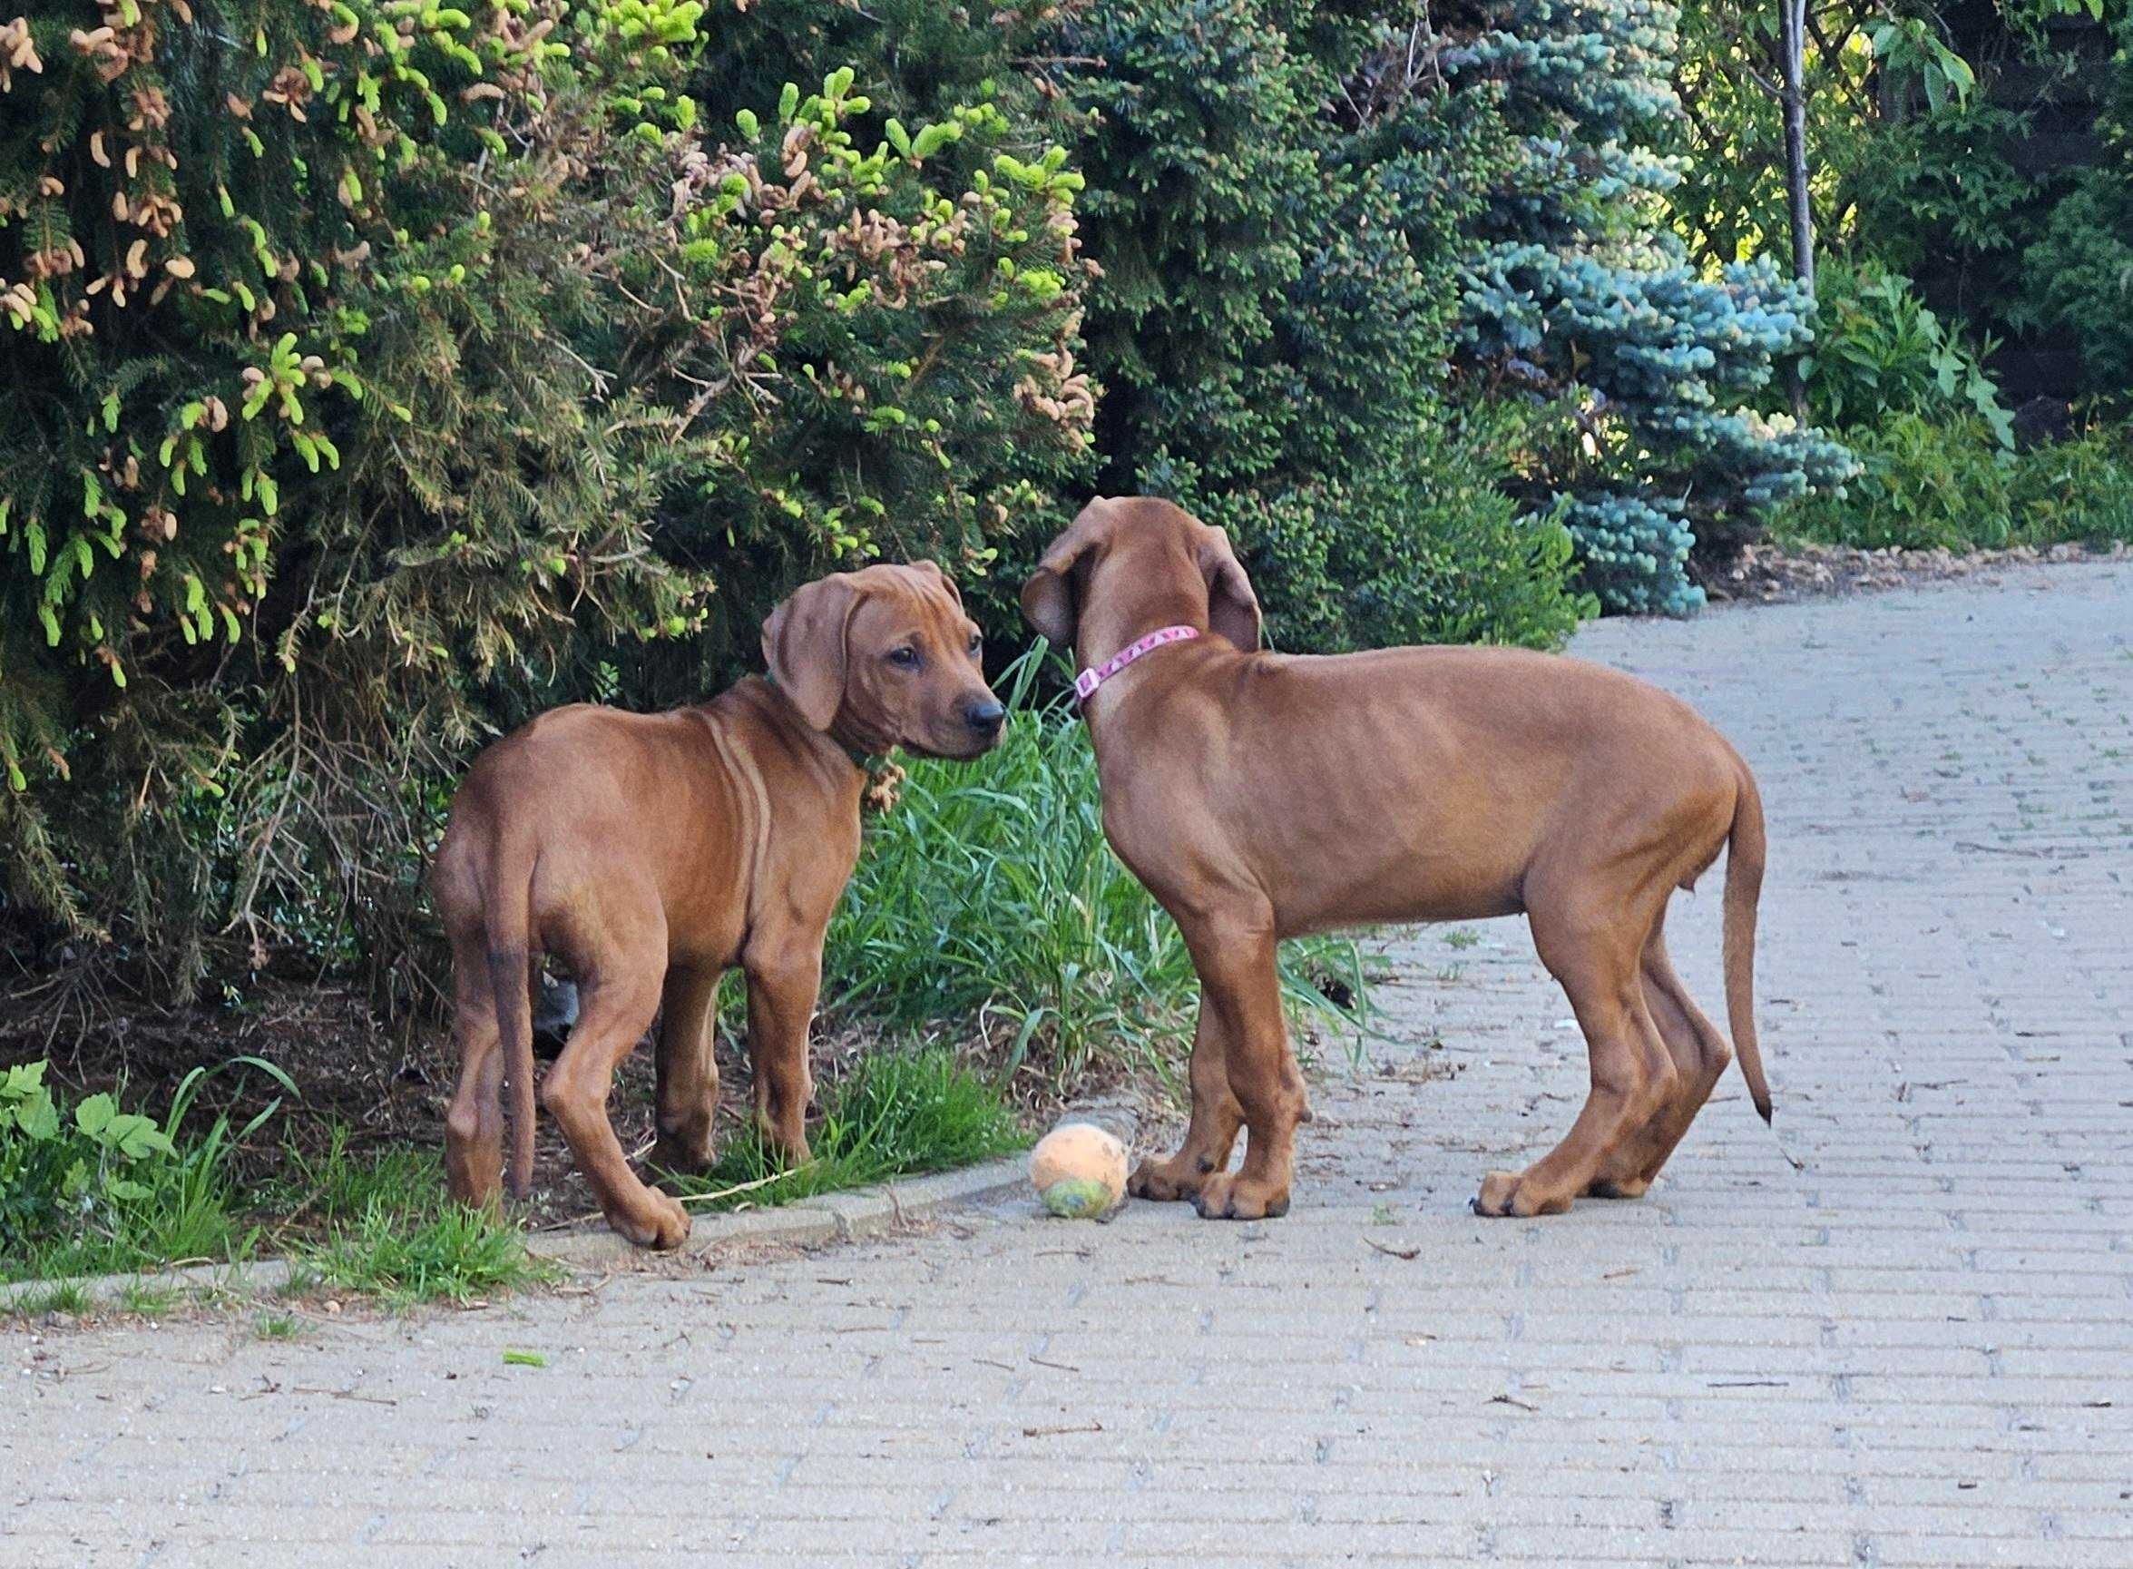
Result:
<instances>
[{"instance_id":1,"label":"short grass tuft at path edge below left puppy's tail","mask_svg":"<svg viewBox=\"0 0 2133 1569\"><path fill-rule=\"evenodd\" d=\"M431 1151L358 1157L335 1129L322 1155L290 1155L279 1202L290 1213L290 1296L352 1291L405 1309L471 1302L548 1274L518 1225L452 1202Z\"/></svg>"}]
</instances>

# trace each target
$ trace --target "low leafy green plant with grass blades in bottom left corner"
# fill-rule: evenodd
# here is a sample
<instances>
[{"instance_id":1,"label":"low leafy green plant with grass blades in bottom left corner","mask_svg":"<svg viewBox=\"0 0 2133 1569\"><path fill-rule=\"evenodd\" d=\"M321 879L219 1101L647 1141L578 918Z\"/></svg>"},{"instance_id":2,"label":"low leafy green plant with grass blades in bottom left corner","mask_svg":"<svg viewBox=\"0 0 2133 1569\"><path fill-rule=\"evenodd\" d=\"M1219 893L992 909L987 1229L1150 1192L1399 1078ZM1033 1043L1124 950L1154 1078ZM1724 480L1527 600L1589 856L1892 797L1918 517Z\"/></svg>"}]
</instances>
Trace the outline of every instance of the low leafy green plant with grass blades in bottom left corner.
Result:
<instances>
[{"instance_id":1,"label":"low leafy green plant with grass blades in bottom left corner","mask_svg":"<svg viewBox=\"0 0 2133 1569\"><path fill-rule=\"evenodd\" d=\"M232 1129L215 1116L188 1131L201 1087L215 1072L252 1067L294 1093L258 1057L194 1067L156 1123L122 1112L109 1093L66 1106L45 1084L47 1063L0 1074L0 1281L96 1274L149 1264L230 1259L252 1247L235 1213L230 1157L282 1106L269 1102Z\"/></svg>"}]
</instances>

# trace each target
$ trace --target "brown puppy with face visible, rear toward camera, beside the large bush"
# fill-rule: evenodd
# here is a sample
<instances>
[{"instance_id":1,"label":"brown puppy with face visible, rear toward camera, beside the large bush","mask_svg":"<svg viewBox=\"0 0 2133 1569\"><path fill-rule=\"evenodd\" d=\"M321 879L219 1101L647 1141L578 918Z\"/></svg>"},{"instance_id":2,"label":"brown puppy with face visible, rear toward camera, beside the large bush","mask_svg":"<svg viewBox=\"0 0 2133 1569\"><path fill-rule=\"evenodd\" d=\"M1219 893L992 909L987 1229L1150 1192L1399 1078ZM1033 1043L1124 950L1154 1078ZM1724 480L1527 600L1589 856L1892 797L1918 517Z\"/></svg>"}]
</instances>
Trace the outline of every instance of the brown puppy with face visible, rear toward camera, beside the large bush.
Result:
<instances>
[{"instance_id":1,"label":"brown puppy with face visible, rear toward camera, beside the large bush","mask_svg":"<svg viewBox=\"0 0 2133 1569\"><path fill-rule=\"evenodd\" d=\"M616 1232L678 1247L689 1213L629 1170L608 1123L614 1065L663 1010L653 1159L710 1166L712 1003L736 963L757 1119L787 1159L808 1157L821 939L860 854L866 773L851 754L975 758L1005 711L977 625L932 561L808 583L764 623L764 657L774 683L749 677L674 713L557 709L476 758L431 869L452 941L461 1078L446 1170L463 1202L497 1193L506 1069L512 1193L531 1183L544 952L576 978L580 1010L540 1099Z\"/></svg>"}]
</instances>

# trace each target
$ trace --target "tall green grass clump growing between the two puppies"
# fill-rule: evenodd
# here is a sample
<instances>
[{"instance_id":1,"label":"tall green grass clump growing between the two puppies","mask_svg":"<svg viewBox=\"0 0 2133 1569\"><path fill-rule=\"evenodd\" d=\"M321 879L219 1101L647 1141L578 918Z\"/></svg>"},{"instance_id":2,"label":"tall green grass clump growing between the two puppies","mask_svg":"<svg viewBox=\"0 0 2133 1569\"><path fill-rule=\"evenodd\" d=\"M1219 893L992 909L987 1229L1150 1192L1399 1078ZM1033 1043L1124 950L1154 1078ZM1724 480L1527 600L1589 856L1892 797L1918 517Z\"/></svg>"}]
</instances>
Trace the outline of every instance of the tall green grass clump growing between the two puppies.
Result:
<instances>
[{"instance_id":1,"label":"tall green grass clump growing between the two puppies","mask_svg":"<svg viewBox=\"0 0 2133 1569\"><path fill-rule=\"evenodd\" d=\"M1071 1093L1094 1067L1175 1080L1199 978L1177 926L1103 837L1088 728L1064 702L1030 709L1045 645L1000 681L1005 739L977 762L913 760L828 944L830 1005L889 1027L973 1020L1007 1074ZM1354 1023L1352 941L1282 948L1290 1010Z\"/></svg>"}]
</instances>

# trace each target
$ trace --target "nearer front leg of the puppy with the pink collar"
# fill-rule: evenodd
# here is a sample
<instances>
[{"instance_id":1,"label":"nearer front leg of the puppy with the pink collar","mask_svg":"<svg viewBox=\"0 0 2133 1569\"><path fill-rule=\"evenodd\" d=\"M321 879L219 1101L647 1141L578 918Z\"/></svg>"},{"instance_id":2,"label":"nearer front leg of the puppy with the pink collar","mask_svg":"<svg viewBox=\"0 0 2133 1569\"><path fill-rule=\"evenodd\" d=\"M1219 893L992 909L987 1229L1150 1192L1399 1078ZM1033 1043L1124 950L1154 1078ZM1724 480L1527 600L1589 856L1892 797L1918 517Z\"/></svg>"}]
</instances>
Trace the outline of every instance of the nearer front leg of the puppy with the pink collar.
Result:
<instances>
[{"instance_id":1,"label":"nearer front leg of the puppy with the pink collar","mask_svg":"<svg viewBox=\"0 0 2133 1569\"><path fill-rule=\"evenodd\" d=\"M1273 965L1273 912L1222 912L1180 922L1201 978L1201 1010L1222 1035L1229 1093L1244 1114L1244 1168L1214 1172L1199 1191L1209 1221L1256 1221L1288 1213L1303 1076L1288 1052L1282 982Z\"/></svg>"}]
</instances>

